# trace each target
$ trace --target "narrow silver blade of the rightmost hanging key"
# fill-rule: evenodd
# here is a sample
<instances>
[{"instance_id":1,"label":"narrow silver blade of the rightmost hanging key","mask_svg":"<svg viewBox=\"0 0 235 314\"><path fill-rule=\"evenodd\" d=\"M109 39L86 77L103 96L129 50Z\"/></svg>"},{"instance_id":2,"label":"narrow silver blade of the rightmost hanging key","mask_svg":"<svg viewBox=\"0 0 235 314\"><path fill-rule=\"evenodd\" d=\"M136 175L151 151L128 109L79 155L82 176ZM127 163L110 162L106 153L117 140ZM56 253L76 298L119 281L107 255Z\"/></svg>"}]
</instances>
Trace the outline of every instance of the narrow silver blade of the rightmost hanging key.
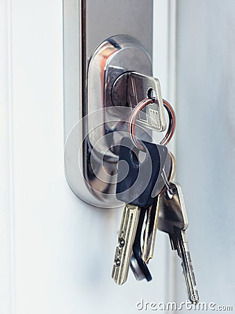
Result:
<instances>
[{"instance_id":1,"label":"narrow silver blade of the rightmost hanging key","mask_svg":"<svg viewBox=\"0 0 235 314\"><path fill-rule=\"evenodd\" d=\"M179 257L181 257L181 266L183 267L183 274L186 284L186 290L188 293L188 299L193 304L197 304L199 300L199 295L197 292L197 284L193 271L193 263L188 249L188 240L185 230L181 230L181 232L179 232L179 237L177 237L177 253Z\"/></svg>"}]
</instances>

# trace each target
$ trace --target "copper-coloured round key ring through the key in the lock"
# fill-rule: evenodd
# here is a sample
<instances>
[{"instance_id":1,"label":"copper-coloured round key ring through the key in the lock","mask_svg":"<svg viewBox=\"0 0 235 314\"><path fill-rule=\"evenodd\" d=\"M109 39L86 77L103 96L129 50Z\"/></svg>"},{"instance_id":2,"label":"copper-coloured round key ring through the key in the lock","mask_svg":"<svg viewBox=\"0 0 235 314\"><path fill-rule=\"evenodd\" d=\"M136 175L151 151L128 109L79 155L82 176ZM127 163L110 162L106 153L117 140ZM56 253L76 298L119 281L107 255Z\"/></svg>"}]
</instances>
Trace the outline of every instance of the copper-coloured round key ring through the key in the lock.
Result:
<instances>
[{"instance_id":1,"label":"copper-coloured round key ring through the key in the lock","mask_svg":"<svg viewBox=\"0 0 235 314\"><path fill-rule=\"evenodd\" d=\"M138 142L138 140L136 139L136 134L135 134L136 119L137 119L138 114L140 113L140 111L145 106L149 105L150 103L154 103L154 101L155 100L153 98L145 98L145 99L141 100L140 103L138 103L138 105L136 105L136 107L134 107L133 112L131 113L131 117L129 119L128 132L129 132L129 135L131 137L131 140L135 144L135 146L138 149L142 150L142 151L145 151L145 149ZM172 136L175 133L175 125L176 125L175 120L176 120L176 118L175 118L175 111L173 110L173 108L170 105L170 103L168 103L168 101L163 99L163 105L164 105L165 109L168 112L169 126L168 126L167 133L165 134L165 136L163 137L163 139L161 140L161 142L159 144L166 145L166 144L168 144L170 142L170 140L172 139Z\"/></svg>"}]
</instances>

